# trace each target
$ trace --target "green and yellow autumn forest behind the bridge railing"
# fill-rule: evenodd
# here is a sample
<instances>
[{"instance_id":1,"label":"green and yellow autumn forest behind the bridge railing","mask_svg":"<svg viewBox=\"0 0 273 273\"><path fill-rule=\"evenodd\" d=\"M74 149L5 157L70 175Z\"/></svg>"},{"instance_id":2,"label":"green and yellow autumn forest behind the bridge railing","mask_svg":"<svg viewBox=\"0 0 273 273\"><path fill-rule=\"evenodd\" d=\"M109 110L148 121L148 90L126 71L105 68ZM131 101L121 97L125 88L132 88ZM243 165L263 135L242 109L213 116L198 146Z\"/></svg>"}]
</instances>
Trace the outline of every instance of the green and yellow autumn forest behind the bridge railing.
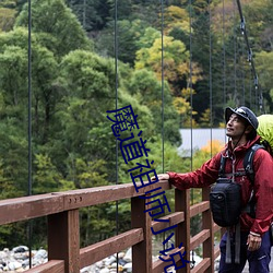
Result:
<instances>
[{"instance_id":1,"label":"green and yellow autumn forest behind the bridge railing","mask_svg":"<svg viewBox=\"0 0 273 273\"><path fill-rule=\"evenodd\" d=\"M130 182L107 110L132 106L158 173L219 149L185 158L179 129L223 128L226 106L272 112L273 2L240 2L251 52L235 0L2 0L1 200ZM122 232L130 204L118 207ZM45 221L33 223L35 246L46 247ZM81 227L83 246L109 237L116 204L83 209ZM0 248L26 229L0 226Z\"/></svg>"}]
</instances>

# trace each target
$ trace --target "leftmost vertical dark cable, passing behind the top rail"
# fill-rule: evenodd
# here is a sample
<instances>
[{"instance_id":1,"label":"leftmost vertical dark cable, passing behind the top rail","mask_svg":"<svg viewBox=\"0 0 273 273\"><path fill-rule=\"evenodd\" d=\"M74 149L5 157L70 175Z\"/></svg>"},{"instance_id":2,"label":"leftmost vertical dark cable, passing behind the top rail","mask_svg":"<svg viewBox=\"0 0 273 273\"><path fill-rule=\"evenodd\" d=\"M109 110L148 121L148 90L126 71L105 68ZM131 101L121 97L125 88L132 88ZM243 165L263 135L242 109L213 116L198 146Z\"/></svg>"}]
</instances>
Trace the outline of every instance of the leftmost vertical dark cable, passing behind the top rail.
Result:
<instances>
[{"instance_id":1,"label":"leftmost vertical dark cable, passing behind the top rail","mask_svg":"<svg viewBox=\"0 0 273 273\"><path fill-rule=\"evenodd\" d=\"M28 49L27 49L27 76L28 76L28 191L27 195L32 195L32 0L28 0ZM28 250L29 250L29 268L32 268L32 221L28 221Z\"/></svg>"}]
</instances>

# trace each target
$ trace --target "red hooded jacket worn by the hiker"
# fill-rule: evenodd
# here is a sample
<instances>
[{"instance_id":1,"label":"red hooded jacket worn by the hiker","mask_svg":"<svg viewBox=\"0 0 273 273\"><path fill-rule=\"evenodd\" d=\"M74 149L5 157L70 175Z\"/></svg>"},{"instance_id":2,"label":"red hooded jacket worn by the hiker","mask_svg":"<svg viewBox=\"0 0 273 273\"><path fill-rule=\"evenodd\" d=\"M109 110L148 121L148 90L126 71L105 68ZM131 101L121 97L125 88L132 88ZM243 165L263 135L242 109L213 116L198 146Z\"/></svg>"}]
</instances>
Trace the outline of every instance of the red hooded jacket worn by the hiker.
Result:
<instances>
[{"instance_id":1,"label":"red hooded jacket worn by the hiker","mask_svg":"<svg viewBox=\"0 0 273 273\"><path fill-rule=\"evenodd\" d=\"M259 143L260 136L253 141L249 141L244 146L238 146L232 151L225 149L204 163L201 168L192 173L177 174L168 173L169 181L178 189L185 190L189 188L203 188L216 181L218 178L218 169L221 165L221 155L228 156L226 159L225 174L233 173L233 159L235 173L244 171L244 157L246 151ZM254 169L254 197L256 197L256 218L251 218L246 212L240 216L241 230L253 232L263 235L270 227L273 219L273 157L263 149L259 149L253 157ZM252 186L247 176L235 177L235 181L241 185L241 201L245 206L251 194Z\"/></svg>"}]
</instances>

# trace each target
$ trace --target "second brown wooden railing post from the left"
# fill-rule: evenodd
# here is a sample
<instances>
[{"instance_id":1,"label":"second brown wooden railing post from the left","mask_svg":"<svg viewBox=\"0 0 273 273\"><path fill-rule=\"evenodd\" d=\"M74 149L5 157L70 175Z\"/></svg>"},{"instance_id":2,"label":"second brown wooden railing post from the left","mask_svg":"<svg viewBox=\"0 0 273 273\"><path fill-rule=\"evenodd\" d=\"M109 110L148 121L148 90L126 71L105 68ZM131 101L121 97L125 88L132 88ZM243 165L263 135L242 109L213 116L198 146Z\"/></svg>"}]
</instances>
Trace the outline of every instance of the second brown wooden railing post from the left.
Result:
<instances>
[{"instance_id":1,"label":"second brown wooden railing post from the left","mask_svg":"<svg viewBox=\"0 0 273 273\"><path fill-rule=\"evenodd\" d=\"M152 230L151 216L144 212L146 200L140 198L131 199L131 223L132 228L143 229L144 240L132 247L132 272L152 273Z\"/></svg>"}]
</instances>

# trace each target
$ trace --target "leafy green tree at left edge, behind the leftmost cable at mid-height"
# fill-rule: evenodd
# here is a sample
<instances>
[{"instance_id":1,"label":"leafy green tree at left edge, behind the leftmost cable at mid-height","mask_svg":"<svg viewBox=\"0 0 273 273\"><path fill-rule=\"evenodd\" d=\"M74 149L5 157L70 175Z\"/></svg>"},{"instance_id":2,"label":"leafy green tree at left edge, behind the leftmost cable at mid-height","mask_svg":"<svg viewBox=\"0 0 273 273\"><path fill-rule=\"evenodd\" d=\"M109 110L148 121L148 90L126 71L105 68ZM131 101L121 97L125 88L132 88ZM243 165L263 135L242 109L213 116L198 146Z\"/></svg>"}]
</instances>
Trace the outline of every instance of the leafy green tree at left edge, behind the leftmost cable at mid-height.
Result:
<instances>
[{"instance_id":1,"label":"leafy green tree at left edge, behind the leftmost cable at mid-height","mask_svg":"<svg viewBox=\"0 0 273 273\"><path fill-rule=\"evenodd\" d=\"M32 93L34 96L34 136L39 143L45 143L50 131L49 123L54 118L56 102L60 98L55 86L57 78L57 61L51 51L40 46L37 35L32 41ZM0 36L2 52L2 90L8 105L27 105L27 29L16 27ZM11 81L11 79L13 79ZM11 96L12 95L12 96ZM22 103L19 103L19 100ZM24 102L24 104L23 104ZM15 108L13 108L15 109ZM25 108L26 110L26 108ZM26 122L25 111L15 112Z\"/></svg>"}]
</instances>

